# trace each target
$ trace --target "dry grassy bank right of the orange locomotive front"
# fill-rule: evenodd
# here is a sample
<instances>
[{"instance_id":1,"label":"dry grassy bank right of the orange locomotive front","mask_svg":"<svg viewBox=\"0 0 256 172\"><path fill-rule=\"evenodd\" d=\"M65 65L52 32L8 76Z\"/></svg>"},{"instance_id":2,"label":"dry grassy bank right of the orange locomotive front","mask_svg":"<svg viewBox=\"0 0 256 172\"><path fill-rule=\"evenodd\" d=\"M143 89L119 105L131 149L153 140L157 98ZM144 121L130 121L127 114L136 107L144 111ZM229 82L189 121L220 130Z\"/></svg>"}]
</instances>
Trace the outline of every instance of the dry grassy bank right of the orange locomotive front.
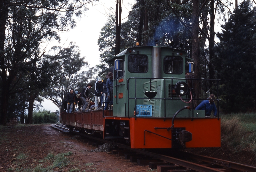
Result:
<instances>
[{"instance_id":1,"label":"dry grassy bank right of the orange locomotive front","mask_svg":"<svg viewBox=\"0 0 256 172\"><path fill-rule=\"evenodd\" d=\"M222 144L235 152L245 148L256 155L256 114L232 113L221 117Z\"/></svg>"}]
</instances>

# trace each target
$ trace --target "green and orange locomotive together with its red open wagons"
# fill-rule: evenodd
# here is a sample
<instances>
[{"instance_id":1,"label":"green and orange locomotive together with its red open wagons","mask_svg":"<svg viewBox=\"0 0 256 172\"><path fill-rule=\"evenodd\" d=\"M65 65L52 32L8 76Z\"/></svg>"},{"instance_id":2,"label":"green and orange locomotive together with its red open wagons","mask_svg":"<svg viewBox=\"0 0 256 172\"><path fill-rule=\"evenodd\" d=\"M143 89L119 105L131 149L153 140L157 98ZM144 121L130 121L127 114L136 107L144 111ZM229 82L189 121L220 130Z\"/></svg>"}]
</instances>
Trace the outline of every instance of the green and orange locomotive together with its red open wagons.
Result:
<instances>
[{"instance_id":1,"label":"green and orange locomotive together with its red open wagons","mask_svg":"<svg viewBox=\"0 0 256 172\"><path fill-rule=\"evenodd\" d=\"M217 83L217 118L190 109L188 105L193 107L195 100L204 99L192 96L199 79L186 78L194 72L193 63L186 62L192 59L186 55L157 45L124 50L108 60L115 64L113 110L62 112L60 122L132 148L220 147L220 80L213 80Z\"/></svg>"}]
</instances>

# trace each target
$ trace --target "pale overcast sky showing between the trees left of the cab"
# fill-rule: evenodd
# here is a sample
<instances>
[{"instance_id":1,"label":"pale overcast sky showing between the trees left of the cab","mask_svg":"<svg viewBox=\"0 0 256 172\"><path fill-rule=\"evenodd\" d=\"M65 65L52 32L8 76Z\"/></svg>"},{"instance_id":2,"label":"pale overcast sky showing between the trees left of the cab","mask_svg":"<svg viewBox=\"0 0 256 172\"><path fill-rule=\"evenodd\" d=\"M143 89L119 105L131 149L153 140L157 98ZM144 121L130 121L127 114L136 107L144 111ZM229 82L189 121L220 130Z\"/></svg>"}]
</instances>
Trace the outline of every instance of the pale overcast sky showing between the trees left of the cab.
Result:
<instances>
[{"instance_id":1,"label":"pale overcast sky showing between the trees left of the cab","mask_svg":"<svg viewBox=\"0 0 256 172\"><path fill-rule=\"evenodd\" d=\"M70 30L70 32L60 34L61 42L58 46L68 47L70 41L73 41L79 47L81 56L85 57L85 61L88 61L90 67L98 64L100 59L98 46L100 29L108 20L106 13L110 12L108 10L109 7L115 9L115 2L115 0L100 0L100 2L93 2L91 5L88 5L89 10L84 13L81 19L77 20L76 28ZM131 4L134 4L133 2L133 0L123 0L122 19L127 17L128 12L132 8ZM56 43L52 43L48 47L55 45ZM58 110L58 107L50 100L44 100L42 105L42 109L45 110L52 112Z\"/></svg>"}]
</instances>

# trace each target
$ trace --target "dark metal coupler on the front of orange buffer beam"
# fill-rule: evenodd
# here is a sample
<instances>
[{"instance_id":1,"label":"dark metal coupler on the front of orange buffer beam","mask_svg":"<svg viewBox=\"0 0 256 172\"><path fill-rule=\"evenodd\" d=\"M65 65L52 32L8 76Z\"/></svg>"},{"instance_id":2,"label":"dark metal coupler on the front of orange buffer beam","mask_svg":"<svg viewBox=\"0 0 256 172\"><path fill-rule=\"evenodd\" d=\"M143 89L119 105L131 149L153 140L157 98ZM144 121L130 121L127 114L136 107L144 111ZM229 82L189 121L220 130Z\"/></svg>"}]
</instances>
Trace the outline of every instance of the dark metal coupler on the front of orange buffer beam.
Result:
<instances>
[{"instance_id":1,"label":"dark metal coupler on the front of orange buffer beam","mask_svg":"<svg viewBox=\"0 0 256 172\"><path fill-rule=\"evenodd\" d=\"M184 148L186 147L186 142L192 140L192 133L186 131L185 127L172 128L172 148Z\"/></svg>"}]
</instances>

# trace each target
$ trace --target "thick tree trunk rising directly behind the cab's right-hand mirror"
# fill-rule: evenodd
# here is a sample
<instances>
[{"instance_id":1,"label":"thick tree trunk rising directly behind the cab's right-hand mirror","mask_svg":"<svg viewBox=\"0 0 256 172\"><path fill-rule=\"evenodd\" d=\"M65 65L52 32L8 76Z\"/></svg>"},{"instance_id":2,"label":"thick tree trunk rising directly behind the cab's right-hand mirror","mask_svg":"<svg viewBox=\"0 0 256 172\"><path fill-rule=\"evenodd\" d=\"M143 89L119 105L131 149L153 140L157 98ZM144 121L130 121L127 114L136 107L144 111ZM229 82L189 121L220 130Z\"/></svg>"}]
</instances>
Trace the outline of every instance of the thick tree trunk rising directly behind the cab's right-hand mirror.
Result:
<instances>
[{"instance_id":1,"label":"thick tree trunk rising directly behind the cab's right-hand mirror","mask_svg":"<svg viewBox=\"0 0 256 172\"><path fill-rule=\"evenodd\" d=\"M200 61L199 61L199 2L198 0L192 0L192 54L191 57L195 63L195 78L200 78ZM195 89L196 98L200 97L200 84L197 84ZM198 101L196 102L198 104Z\"/></svg>"}]
</instances>

